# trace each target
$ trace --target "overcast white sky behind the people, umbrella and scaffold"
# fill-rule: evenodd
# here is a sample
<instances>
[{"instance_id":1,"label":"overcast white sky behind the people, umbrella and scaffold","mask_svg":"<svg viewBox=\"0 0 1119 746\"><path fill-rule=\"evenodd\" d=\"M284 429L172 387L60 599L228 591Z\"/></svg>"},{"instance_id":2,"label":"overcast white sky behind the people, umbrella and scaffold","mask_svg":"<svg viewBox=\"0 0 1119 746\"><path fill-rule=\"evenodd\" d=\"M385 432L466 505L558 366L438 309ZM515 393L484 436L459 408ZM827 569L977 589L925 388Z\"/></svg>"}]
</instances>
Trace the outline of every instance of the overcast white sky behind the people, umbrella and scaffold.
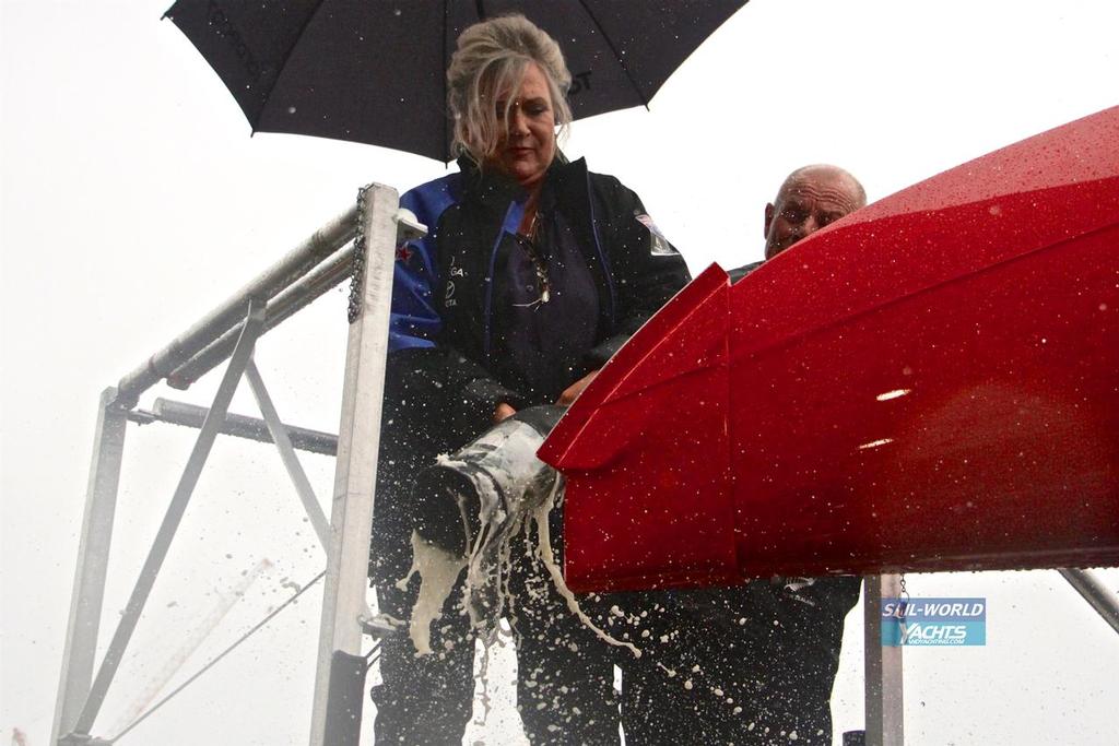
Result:
<instances>
[{"instance_id":1,"label":"overcast white sky behind the people, umbrella and scaffold","mask_svg":"<svg viewBox=\"0 0 1119 746\"><path fill-rule=\"evenodd\" d=\"M0 0L0 738L49 737L97 396L372 180L441 163L248 125L169 0ZM693 271L760 258L762 208L792 168L839 163L872 199L1119 104L1119 9L1106 0L754 0L653 100L577 122L566 150L636 189ZM360 92L355 92L360 95ZM345 292L272 332L257 361L284 419L336 431ZM154 390L206 404L214 384ZM255 414L238 396L234 409ZM107 635L194 433L130 427ZM332 464L304 459L320 495ZM179 671L197 669L323 558L270 447L219 442L134 654L97 723L113 735L190 631L262 558L274 567ZM1104 577L1119 586L1119 572ZM918 596L986 596L988 644L908 651L914 744L1115 740L1119 636L1054 573L913 576ZM300 744L317 594L122 743ZM837 729L862 727L861 617ZM495 686L508 689L508 673ZM471 735L516 735L505 709Z\"/></svg>"}]
</instances>

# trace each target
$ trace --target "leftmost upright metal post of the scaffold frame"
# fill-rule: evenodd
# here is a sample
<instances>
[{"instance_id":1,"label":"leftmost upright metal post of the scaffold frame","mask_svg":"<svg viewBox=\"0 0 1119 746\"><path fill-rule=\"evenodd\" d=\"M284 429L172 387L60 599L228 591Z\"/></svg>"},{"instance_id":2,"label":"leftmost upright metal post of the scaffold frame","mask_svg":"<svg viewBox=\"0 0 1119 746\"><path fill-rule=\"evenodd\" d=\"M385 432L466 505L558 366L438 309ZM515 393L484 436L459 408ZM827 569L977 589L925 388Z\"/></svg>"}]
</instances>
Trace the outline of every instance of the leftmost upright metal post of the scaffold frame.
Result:
<instances>
[{"instance_id":1,"label":"leftmost upright metal post of the scaffold frame","mask_svg":"<svg viewBox=\"0 0 1119 746\"><path fill-rule=\"evenodd\" d=\"M109 570L109 549L113 537L113 516L116 511L116 489L124 452L124 431L128 425L125 412L113 404L115 399L115 388L110 387L101 393L69 621L66 624L66 644L58 679L58 697L50 730L51 744L57 744L58 738L73 728L93 681L93 662Z\"/></svg>"}]
</instances>

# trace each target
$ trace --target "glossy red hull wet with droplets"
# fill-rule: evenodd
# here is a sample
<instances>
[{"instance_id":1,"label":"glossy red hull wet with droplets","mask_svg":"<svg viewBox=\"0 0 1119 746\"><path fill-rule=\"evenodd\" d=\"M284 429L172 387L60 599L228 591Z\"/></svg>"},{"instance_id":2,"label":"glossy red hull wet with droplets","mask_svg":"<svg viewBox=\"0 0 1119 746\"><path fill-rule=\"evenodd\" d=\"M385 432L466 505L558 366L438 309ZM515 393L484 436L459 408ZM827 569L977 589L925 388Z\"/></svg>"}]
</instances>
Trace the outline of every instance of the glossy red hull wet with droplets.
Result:
<instances>
[{"instance_id":1,"label":"glossy red hull wet with droplets","mask_svg":"<svg viewBox=\"0 0 1119 746\"><path fill-rule=\"evenodd\" d=\"M579 591L1119 565L1119 107L707 270L540 457Z\"/></svg>"}]
</instances>

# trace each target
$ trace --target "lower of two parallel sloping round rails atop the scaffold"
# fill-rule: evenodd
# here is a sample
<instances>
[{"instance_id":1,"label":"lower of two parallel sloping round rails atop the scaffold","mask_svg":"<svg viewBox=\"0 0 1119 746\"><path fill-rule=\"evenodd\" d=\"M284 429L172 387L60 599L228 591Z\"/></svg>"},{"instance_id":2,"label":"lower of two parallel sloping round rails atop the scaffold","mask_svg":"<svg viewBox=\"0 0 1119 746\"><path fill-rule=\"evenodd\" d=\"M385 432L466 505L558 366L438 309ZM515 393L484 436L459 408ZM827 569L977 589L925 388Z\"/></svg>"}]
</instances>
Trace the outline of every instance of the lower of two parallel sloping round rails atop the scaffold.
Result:
<instances>
[{"instance_id":1,"label":"lower of two parallel sloping round rails atop the scaffold","mask_svg":"<svg viewBox=\"0 0 1119 746\"><path fill-rule=\"evenodd\" d=\"M354 247L340 248L300 282L272 299L269 302L269 320L264 324L264 331L267 332L280 325L288 318L294 315L297 311L305 308L348 277L352 262ZM172 388L189 388L191 384L228 358L236 343L237 330L231 329L172 370L167 377L167 384Z\"/></svg>"}]
</instances>

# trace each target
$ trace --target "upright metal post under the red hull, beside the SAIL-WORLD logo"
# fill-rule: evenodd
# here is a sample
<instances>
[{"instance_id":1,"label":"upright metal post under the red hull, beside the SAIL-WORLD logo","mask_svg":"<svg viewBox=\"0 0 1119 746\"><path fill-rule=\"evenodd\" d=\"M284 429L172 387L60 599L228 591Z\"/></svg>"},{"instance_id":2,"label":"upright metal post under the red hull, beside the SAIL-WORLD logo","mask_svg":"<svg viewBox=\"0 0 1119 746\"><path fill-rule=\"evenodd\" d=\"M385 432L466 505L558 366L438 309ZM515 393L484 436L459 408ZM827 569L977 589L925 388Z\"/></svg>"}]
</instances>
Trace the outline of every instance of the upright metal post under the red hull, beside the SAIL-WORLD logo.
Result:
<instances>
[{"instance_id":1,"label":"upright metal post under the red hull, beside the SAIL-WORLD logo","mask_svg":"<svg viewBox=\"0 0 1119 746\"><path fill-rule=\"evenodd\" d=\"M863 644L866 676L866 746L905 743L901 645L882 644L882 599L901 594L901 576L868 575L863 582Z\"/></svg>"}]
</instances>

